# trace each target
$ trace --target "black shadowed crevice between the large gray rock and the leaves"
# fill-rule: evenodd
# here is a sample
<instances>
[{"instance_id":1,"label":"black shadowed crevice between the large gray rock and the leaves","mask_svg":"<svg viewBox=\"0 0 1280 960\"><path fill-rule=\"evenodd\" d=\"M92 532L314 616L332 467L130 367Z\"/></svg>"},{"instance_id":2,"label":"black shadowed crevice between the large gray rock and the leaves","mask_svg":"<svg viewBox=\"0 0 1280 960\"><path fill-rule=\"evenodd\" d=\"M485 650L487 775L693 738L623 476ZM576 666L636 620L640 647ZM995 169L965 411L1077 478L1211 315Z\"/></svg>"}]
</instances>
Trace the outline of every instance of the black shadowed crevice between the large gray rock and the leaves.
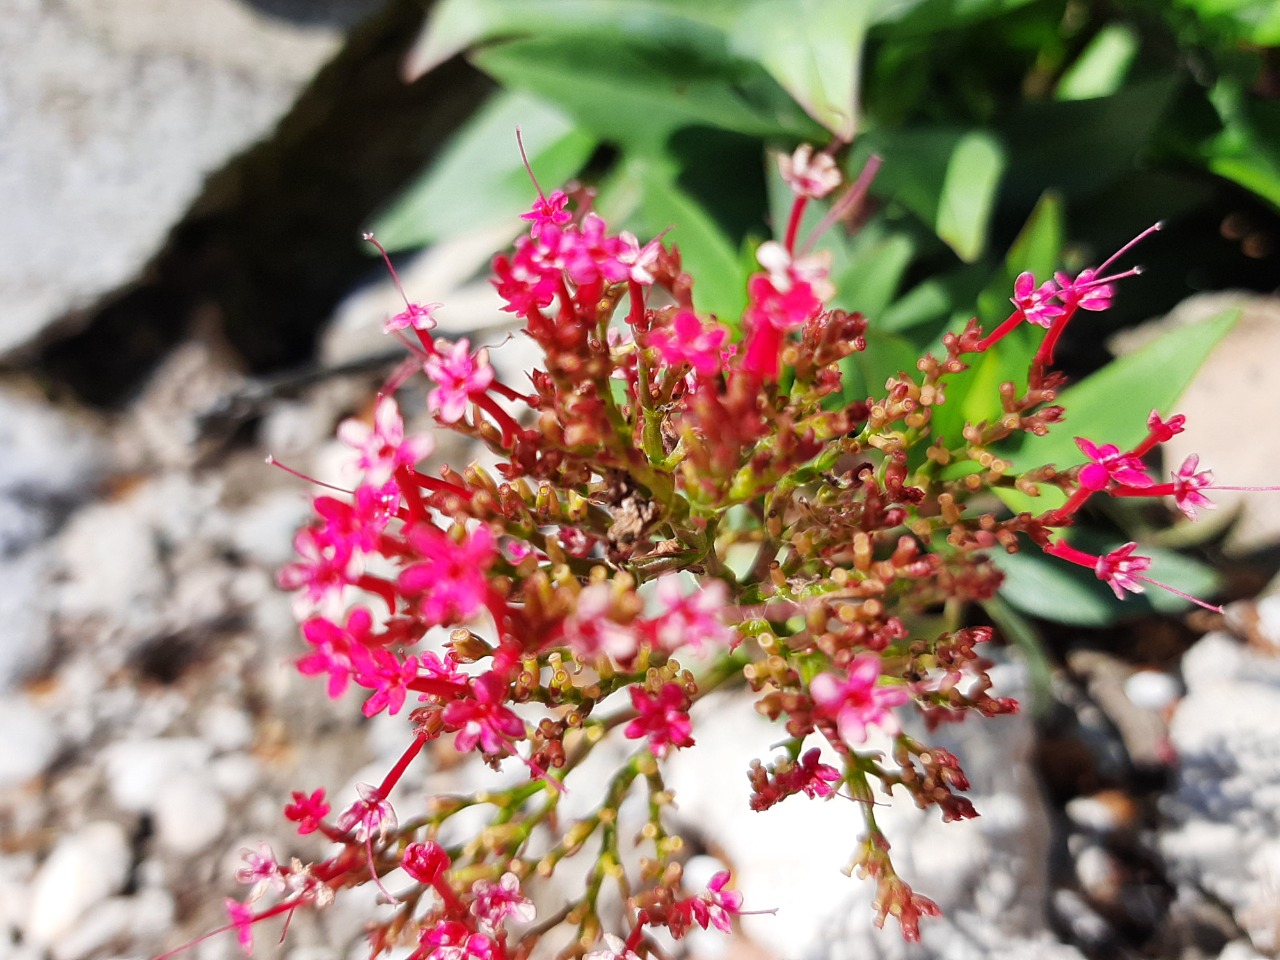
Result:
<instances>
[{"instance_id":1,"label":"black shadowed crevice between the large gray rock and the leaves","mask_svg":"<svg viewBox=\"0 0 1280 960\"><path fill-rule=\"evenodd\" d=\"M197 314L251 372L311 356L334 306L378 270L360 243L371 214L493 90L461 59L403 82L422 15L392 0L351 32L274 134L209 178L142 275L42 349L55 388L122 404Z\"/></svg>"}]
</instances>

